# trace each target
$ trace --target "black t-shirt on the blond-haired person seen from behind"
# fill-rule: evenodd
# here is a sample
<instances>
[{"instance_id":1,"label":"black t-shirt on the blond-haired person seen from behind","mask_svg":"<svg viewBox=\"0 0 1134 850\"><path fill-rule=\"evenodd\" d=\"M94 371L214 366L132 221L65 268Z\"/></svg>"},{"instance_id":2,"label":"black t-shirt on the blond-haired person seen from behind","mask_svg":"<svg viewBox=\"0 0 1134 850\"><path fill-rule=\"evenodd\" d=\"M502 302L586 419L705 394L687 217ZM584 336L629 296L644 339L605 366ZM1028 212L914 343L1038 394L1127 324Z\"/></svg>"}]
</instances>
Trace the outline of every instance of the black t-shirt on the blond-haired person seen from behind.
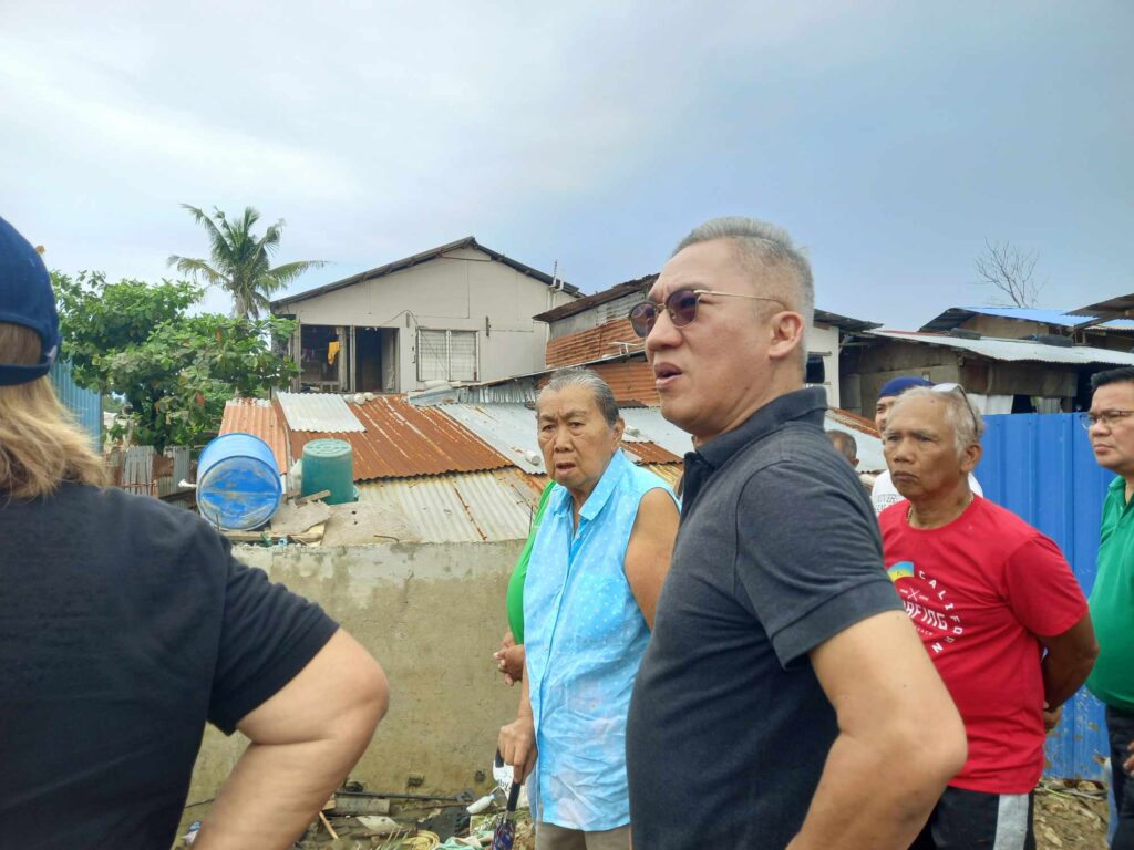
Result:
<instances>
[{"instance_id":1,"label":"black t-shirt on the blond-haired person seen from behind","mask_svg":"<svg viewBox=\"0 0 1134 850\"><path fill-rule=\"evenodd\" d=\"M167 850L205 722L231 733L336 628L188 511L0 495L0 848Z\"/></svg>"}]
</instances>

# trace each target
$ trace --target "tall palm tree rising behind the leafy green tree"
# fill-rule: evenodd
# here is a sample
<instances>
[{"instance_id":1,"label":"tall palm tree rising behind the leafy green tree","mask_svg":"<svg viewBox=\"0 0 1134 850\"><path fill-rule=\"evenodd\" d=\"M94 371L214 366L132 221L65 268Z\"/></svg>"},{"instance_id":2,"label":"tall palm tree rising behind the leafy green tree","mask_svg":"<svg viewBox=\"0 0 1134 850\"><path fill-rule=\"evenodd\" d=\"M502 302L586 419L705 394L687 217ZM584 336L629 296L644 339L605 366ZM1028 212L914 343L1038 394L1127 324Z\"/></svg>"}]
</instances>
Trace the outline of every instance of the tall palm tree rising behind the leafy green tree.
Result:
<instances>
[{"instance_id":1,"label":"tall palm tree rising behind the leafy green tree","mask_svg":"<svg viewBox=\"0 0 1134 850\"><path fill-rule=\"evenodd\" d=\"M168 264L176 265L177 271L192 275L195 280L203 280L231 292L235 316L259 318L261 311L268 312L272 292L282 289L308 269L327 265L322 260L305 260L271 267L271 255L279 247L284 219L269 227L257 239L252 233L252 227L260 221L260 213L251 206L246 206L244 216L235 222L215 206L215 221L195 206L181 206L193 213L196 222L209 233L212 264L177 254L169 257Z\"/></svg>"}]
</instances>

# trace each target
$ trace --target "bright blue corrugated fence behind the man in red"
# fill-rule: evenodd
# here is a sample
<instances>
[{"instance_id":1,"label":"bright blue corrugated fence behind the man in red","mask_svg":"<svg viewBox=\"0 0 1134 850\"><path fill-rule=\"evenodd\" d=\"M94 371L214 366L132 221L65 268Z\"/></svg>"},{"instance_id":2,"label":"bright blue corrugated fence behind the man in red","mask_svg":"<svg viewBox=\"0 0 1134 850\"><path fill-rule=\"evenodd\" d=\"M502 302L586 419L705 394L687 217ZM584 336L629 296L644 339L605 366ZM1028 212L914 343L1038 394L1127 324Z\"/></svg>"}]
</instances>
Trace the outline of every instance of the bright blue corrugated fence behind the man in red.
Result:
<instances>
[{"instance_id":1,"label":"bright blue corrugated fence behind the man in red","mask_svg":"<svg viewBox=\"0 0 1134 850\"><path fill-rule=\"evenodd\" d=\"M976 468L984 495L1051 537L1089 594L1102 502L1114 474L1094 462L1086 432L1072 414L1012 414L985 422L984 458ZM1081 690L1048 738L1047 773L1109 784L1100 763L1108 751L1102 705Z\"/></svg>"}]
</instances>

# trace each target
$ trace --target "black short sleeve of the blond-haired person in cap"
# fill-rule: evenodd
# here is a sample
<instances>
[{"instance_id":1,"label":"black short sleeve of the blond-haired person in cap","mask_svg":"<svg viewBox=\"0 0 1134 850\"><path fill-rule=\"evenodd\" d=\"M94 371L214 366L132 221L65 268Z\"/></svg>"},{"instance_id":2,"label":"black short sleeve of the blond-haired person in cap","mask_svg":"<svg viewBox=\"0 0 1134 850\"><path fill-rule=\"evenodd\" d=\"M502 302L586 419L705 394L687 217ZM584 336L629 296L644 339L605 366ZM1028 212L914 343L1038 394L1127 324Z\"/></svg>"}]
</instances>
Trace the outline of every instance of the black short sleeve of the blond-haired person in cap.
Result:
<instances>
[{"instance_id":1,"label":"black short sleeve of the blond-haired person in cap","mask_svg":"<svg viewBox=\"0 0 1134 850\"><path fill-rule=\"evenodd\" d=\"M221 546L228 571L209 720L231 734L307 665L338 626L319 605L237 561L228 541Z\"/></svg>"}]
</instances>

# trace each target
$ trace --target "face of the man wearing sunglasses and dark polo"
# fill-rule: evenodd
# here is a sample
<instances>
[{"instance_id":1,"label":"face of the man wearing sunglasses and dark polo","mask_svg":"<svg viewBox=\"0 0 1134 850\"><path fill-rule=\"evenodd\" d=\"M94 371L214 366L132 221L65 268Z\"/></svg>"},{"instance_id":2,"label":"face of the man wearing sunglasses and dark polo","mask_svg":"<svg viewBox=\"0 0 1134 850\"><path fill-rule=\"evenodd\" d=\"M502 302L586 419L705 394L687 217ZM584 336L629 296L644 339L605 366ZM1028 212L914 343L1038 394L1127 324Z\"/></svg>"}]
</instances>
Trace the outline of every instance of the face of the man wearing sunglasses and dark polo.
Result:
<instances>
[{"instance_id":1,"label":"face of the man wearing sunglasses and dark polo","mask_svg":"<svg viewBox=\"0 0 1134 850\"><path fill-rule=\"evenodd\" d=\"M767 295L723 239L691 245L671 257L649 298L663 304L677 289ZM669 314L659 311L645 352L662 416L705 442L736 427L760 406L770 374L770 332L761 312L768 306L704 295L696 318L684 328L675 328Z\"/></svg>"}]
</instances>

